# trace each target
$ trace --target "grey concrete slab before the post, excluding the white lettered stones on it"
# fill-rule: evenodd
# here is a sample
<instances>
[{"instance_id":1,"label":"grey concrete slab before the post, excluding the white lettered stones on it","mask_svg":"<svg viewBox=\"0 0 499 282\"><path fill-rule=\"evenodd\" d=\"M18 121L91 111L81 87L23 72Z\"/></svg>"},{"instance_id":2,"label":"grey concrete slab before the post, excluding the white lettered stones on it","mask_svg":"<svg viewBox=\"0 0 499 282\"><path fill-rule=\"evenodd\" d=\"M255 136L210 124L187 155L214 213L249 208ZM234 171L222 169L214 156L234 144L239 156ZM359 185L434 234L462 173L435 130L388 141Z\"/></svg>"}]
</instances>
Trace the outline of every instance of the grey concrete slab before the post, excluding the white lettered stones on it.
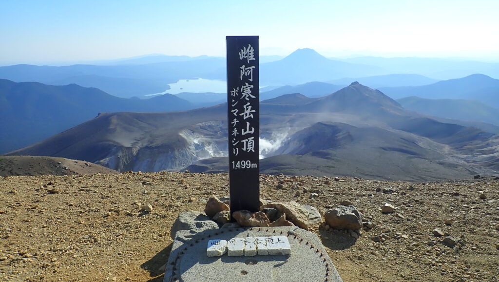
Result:
<instances>
[{"instance_id":1,"label":"grey concrete slab before the post, excluding the white lettered stones on it","mask_svg":"<svg viewBox=\"0 0 499 282\"><path fill-rule=\"evenodd\" d=\"M208 256L211 239L286 236L291 254ZM312 232L291 227L253 227L178 231L166 265L164 282L342 282L320 239Z\"/></svg>"}]
</instances>

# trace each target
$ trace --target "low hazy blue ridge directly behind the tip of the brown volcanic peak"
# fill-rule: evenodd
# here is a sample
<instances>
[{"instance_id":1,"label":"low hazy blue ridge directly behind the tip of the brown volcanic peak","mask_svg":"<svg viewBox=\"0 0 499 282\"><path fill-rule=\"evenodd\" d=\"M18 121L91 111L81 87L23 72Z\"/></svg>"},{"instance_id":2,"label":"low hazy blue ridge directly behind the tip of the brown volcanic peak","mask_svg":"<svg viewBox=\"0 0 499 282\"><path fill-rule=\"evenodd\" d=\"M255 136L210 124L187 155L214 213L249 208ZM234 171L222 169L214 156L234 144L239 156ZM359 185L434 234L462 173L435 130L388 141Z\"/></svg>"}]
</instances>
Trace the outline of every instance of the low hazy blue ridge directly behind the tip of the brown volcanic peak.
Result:
<instances>
[{"instance_id":1,"label":"low hazy blue ridge directly behind the tip of the brown volcanic peak","mask_svg":"<svg viewBox=\"0 0 499 282\"><path fill-rule=\"evenodd\" d=\"M376 89L379 87L421 86L435 83L439 80L429 78L420 74L400 73L357 78L340 78L328 82L338 85L348 85L352 81L358 81L363 85L367 85L371 88Z\"/></svg>"}]
</instances>

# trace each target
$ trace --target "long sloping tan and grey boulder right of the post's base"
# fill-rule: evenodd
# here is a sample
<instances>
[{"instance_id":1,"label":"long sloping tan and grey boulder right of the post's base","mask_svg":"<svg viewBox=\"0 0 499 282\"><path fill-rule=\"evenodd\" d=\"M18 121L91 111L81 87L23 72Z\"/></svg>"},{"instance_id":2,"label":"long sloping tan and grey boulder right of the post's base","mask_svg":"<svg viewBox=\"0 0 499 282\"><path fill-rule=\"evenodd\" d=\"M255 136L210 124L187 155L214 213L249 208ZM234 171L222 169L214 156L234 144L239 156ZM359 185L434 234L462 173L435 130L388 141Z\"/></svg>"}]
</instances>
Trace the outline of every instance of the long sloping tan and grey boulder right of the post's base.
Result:
<instances>
[{"instance_id":1,"label":"long sloping tan and grey boulder right of the post's base","mask_svg":"<svg viewBox=\"0 0 499 282\"><path fill-rule=\"evenodd\" d=\"M315 223L320 222L316 220L317 214L314 214L315 211L313 211L310 208L305 208L303 205L295 202L295 201L290 201L290 202L269 202L260 207L260 210L263 208L275 208L277 209L281 214L286 214L286 219L291 221L294 225L308 230L309 227ZM310 211L309 211L310 210ZM317 211L318 213L318 211ZM319 218L320 218L320 213L319 213Z\"/></svg>"}]
</instances>

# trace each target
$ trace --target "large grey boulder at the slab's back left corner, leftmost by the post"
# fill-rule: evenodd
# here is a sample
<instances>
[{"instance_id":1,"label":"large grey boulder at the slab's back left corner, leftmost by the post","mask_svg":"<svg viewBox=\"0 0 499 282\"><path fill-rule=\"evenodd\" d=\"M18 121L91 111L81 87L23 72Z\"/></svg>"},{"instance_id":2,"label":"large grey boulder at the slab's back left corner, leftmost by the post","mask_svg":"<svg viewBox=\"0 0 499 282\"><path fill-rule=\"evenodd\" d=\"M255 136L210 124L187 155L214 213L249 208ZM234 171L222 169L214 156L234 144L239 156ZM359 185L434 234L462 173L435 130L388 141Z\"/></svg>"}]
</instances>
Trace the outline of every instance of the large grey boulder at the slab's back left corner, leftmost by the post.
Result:
<instances>
[{"instance_id":1,"label":"large grey boulder at the slab's back left corner, leftmost by the post","mask_svg":"<svg viewBox=\"0 0 499 282\"><path fill-rule=\"evenodd\" d=\"M213 221L206 214L195 210L189 210L179 214L179 217L177 217L173 223L170 235L172 236L172 239L174 239L175 234L179 230L193 229L199 232L206 229L217 229L218 227L217 222Z\"/></svg>"}]
</instances>

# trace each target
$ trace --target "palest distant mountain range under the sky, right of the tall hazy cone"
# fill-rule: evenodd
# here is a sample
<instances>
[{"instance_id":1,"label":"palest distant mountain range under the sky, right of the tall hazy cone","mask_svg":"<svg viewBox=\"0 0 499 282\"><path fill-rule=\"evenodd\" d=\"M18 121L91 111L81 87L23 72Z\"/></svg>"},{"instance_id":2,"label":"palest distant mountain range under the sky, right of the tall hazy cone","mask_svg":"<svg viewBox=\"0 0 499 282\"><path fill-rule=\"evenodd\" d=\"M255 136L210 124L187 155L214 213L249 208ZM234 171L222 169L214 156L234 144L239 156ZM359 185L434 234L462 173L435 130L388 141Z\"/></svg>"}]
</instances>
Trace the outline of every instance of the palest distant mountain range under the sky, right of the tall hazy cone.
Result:
<instances>
[{"instance_id":1,"label":"palest distant mountain range under the sky, right of the tall hazy cone","mask_svg":"<svg viewBox=\"0 0 499 282\"><path fill-rule=\"evenodd\" d=\"M353 57L338 59L349 63L375 65L386 73L418 73L435 79L452 79L473 73L484 73L499 78L498 62L425 57Z\"/></svg>"}]
</instances>

